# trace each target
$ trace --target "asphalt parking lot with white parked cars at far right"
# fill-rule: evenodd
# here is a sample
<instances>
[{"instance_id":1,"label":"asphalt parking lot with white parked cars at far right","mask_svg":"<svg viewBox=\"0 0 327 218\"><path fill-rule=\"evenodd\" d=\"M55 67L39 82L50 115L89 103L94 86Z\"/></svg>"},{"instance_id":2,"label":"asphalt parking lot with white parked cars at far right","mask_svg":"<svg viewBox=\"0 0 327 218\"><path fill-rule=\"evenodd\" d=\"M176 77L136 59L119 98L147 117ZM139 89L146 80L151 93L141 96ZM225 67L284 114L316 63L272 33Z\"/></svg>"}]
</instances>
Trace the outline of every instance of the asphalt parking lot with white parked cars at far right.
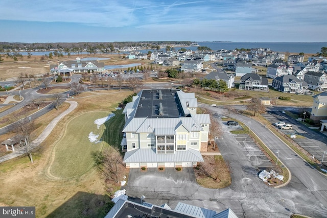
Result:
<instances>
[{"instance_id":1,"label":"asphalt parking lot with white parked cars at far right","mask_svg":"<svg viewBox=\"0 0 327 218\"><path fill-rule=\"evenodd\" d=\"M308 153L311 154L312 159L317 159L322 161L323 164L327 165L327 137L322 133L316 132L310 128L303 126L297 120L287 116L283 112L269 112L262 114L271 124L277 123L279 121L285 121L285 123L291 124L293 126L292 130L281 130L278 131L286 135L300 135L303 137L296 137L293 140Z\"/></svg>"}]
</instances>

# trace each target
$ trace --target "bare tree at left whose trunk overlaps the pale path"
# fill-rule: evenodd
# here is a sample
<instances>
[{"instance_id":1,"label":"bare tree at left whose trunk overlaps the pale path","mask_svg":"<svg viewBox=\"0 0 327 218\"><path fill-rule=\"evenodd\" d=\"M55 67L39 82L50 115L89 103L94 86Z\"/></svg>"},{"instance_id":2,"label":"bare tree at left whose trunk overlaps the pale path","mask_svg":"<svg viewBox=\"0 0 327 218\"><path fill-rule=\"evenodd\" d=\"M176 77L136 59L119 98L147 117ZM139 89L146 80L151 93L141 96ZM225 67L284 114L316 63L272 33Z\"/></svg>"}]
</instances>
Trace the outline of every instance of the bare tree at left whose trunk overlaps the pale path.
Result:
<instances>
[{"instance_id":1,"label":"bare tree at left whose trunk overlaps the pale path","mask_svg":"<svg viewBox=\"0 0 327 218\"><path fill-rule=\"evenodd\" d=\"M30 136L34 129L34 123L30 122L30 118L28 117L19 119L12 124L12 130L17 134L22 134L24 136L25 144L23 148L25 153L30 157L31 163L33 163L33 157Z\"/></svg>"}]
</instances>

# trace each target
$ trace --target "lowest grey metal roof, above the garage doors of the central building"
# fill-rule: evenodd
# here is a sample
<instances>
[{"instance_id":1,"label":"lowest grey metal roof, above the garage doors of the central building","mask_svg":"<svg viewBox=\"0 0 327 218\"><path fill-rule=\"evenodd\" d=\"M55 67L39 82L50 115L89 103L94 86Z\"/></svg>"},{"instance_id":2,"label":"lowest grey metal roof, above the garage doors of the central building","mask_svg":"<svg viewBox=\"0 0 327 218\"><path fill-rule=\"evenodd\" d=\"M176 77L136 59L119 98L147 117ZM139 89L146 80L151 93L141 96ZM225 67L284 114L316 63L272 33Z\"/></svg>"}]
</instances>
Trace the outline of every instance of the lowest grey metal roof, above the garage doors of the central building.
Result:
<instances>
[{"instance_id":1,"label":"lowest grey metal roof, above the garage doors of the central building","mask_svg":"<svg viewBox=\"0 0 327 218\"><path fill-rule=\"evenodd\" d=\"M189 149L175 154L156 154L153 149L135 149L125 153L124 163L203 162L199 151Z\"/></svg>"}]
</instances>

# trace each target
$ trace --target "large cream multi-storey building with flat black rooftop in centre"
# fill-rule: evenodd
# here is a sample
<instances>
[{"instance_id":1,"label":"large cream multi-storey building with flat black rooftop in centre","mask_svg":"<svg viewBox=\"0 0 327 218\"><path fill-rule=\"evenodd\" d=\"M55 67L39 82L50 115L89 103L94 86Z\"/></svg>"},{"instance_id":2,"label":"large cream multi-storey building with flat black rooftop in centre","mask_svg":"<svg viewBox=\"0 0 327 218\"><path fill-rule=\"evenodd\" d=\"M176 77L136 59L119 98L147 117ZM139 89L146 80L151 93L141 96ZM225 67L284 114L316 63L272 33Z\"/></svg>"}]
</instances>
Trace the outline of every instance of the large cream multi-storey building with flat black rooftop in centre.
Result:
<instances>
[{"instance_id":1,"label":"large cream multi-storey building with flat black rooftop in centre","mask_svg":"<svg viewBox=\"0 0 327 218\"><path fill-rule=\"evenodd\" d=\"M194 93L179 89L144 89L123 111L121 145L126 167L192 167L203 162L209 114L197 114Z\"/></svg>"}]
</instances>

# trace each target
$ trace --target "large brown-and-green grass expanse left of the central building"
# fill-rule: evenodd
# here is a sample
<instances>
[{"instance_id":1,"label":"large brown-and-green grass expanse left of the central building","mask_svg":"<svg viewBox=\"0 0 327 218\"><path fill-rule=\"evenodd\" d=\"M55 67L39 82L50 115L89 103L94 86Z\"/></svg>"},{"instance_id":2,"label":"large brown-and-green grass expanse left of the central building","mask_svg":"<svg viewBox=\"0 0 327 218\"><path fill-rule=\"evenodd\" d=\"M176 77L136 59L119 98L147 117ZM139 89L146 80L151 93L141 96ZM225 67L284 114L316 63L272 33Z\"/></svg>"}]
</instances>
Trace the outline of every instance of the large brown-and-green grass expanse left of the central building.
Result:
<instances>
[{"instance_id":1,"label":"large brown-and-green grass expanse left of the central building","mask_svg":"<svg viewBox=\"0 0 327 218\"><path fill-rule=\"evenodd\" d=\"M94 121L116 111L115 108L119 102L129 94L131 94L130 91L109 90L94 92L90 96L83 94L76 96L73 101L78 102L78 107L57 124L52 134L33 153L33 164L26 156L0 164L0 186L2 187L0 205L35 206L36 217L67 217L67 214L69 217L104 217L107 210L103 203L110 201L109 196L120 188L120 184L104 182L96 169L92 167L89 152L99 151L101 146L104 148L108 146L107 141L111 140L109 140L110 136L106 135L107 133L116 136L114 141L119 141L122 126L117 124L119 120L124 120L124 115L122 110L118 110L117 115L100 129L97 129ZM37 123L41 125L37 125L35 136L39 135L41 130L67 106L68 104L63 104L59 111L52 110L39 117ZM108 124L110 122L112 125ZM96 144L90 143L87 136L91 131L97 134L103 133L99 138L106 137L108 140ZM35 136L33 132L33 138ZM76 143L67 146L68 141ZM68 148L69 146L72 148ZM56 153L53 156L54 151ZM85 161L78 158L84 158ZM64 163L54 161L51 164L52 159L62 160ZM69 165L72 169L65 168ZM51 176L48 169L51 173L55 172L58 178ZM122 174L121 181L123 175L128 176L127 169L120 173Z\"/></svg>"}]
</instances>

